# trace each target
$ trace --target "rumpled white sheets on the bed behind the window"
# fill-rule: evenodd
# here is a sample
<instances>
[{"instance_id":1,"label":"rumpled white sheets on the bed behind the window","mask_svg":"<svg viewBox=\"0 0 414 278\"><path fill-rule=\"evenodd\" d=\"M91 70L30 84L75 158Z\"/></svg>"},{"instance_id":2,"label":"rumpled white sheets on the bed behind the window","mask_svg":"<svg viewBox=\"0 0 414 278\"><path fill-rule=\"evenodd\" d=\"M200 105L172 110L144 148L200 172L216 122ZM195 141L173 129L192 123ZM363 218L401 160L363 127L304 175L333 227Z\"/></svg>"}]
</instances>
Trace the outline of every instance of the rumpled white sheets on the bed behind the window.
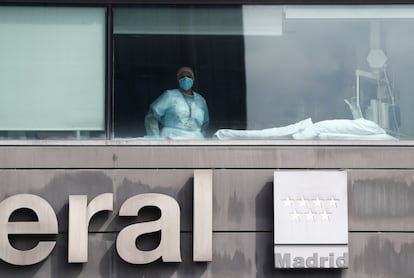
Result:
<instances>
[{"instance_id":1,"label":"rumpled white sheets on the bed behind the window","mask_svg":"<svg viewBox=\"0 0 414 278\"><path fill-rule=\"evenodd\" d=\"M376 123L365 120L326 120L312 123L312 119L292 125L262 130L219 129L214 134L220 140L295 139L295 140L397 140Z\"/></svg>"}]
</instances>

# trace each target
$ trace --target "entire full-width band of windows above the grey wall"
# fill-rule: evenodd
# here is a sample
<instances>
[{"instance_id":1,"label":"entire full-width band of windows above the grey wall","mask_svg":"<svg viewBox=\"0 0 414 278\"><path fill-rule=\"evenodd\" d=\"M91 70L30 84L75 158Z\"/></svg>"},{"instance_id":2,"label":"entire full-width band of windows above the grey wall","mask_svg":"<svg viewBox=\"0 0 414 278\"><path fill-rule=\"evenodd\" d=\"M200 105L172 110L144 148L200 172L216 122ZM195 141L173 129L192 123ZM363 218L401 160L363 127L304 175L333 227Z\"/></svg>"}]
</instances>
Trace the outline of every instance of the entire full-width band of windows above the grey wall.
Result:
<instances>
[{"instance_id":1,"label":"entire full-width band of windows above the grey wall","mask_svg":"<svg viewBox=\"0 0 414 278\"><path fill-rule=\"evenodd\" d=\"M0 6L0 139L414 138L414 5L106 9Z\"/></svg>"}]
</instances>

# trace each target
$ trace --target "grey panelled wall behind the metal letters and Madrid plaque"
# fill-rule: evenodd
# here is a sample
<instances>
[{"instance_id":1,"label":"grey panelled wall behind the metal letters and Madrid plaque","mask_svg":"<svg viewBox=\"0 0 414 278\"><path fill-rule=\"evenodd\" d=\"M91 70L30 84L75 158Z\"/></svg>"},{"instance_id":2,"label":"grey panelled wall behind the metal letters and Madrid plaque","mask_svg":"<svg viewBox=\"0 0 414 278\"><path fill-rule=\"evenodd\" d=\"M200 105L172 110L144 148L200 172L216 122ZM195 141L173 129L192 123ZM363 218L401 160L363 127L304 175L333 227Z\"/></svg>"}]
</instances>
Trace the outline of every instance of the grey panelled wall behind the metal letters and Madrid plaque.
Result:
<instances>
[{"instance_id":1,"label":"grey panelled wall behind the metal letters and Madrid plaque","mask_svg":"<svg viewBox=\"0 0 414 278\"><path fill-rule=\"evenodd\" d=\"M59 221L47 260L16 267L0 262L1 277L413 277L414 148L410 146L2 146L0 200L42 196ZM213 261L192 261L194 168L213 169ZM348 172L350 267L275 270L273 171ZM90 227L89 262L67 264L68 196L114 193L114 212ZM117 217L129 197L174 197L181 207L182 263L130 265L117 255L117 232L138 219ZM148 215L140 217L152 217ZM155 244L147 237L142 244ZM24 239L16 244L25 245Z\"/></svg>"}]
</instances>

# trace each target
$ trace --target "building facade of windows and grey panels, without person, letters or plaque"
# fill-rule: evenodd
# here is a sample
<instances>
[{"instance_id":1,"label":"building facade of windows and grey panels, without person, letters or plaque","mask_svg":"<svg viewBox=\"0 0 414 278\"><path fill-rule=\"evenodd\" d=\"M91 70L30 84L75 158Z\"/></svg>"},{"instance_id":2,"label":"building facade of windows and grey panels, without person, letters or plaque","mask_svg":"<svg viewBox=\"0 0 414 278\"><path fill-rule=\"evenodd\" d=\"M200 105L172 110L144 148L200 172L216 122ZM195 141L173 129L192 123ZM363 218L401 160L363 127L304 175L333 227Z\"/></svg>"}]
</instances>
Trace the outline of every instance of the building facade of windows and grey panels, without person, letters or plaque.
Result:
<instances>
[{"instance_id":1,"label":"building facade of windows and grey panels, without person, letters or plaque","mask_svg":"<svg viewBox=\"0 0 414 278\"><path fill-rule=\"evenodd\" d=\"M46 200L58 227L3 236L3 250L56 245L30 265L8 263L2 251L1 275L412 277L414 7L337 2L318 10L322 2L0 1L0 227L40 219L30 207L5 214L4 200L17 194ZM175 86L182 64L195 69L209 105L209 139L145 137L149 105ZM355 122L358 113L369 123ZM212 257L197 261L199 170L211 170ZM275 268L279 171L347 173L348 268ZM103 193L113 194L113 208L91 217L87 262L69 262L69 198ZM146 193L178 203L181 262L119 255L125 227L164 216L156 205L120 216L128 198ZM155 250L160 230L140 234L136 248Z\"/></svg>"}]
</instances>

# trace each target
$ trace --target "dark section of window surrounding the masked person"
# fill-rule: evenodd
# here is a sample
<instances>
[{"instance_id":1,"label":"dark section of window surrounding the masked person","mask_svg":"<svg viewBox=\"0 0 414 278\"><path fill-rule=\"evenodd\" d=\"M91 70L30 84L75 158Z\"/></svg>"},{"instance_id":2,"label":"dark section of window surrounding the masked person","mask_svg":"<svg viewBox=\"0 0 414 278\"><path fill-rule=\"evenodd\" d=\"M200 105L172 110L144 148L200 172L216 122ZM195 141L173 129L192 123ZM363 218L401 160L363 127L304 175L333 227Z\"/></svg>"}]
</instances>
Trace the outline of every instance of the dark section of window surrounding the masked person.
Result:
<instances>
[{"instance_id":1,"label":"dark section of window surrounding the masked person","mask_svg":"<svg viewBox=\"0 0 414 278\"><path fill-rule=\"evenodd\" d=\"M166 89L177 88L182 65L193 68L194 91L208 106L205 137L223 127L245 129L242 18L241 7L115 9L115 138L147 139L149 107Z\"/></svg>"}]
</instances>

